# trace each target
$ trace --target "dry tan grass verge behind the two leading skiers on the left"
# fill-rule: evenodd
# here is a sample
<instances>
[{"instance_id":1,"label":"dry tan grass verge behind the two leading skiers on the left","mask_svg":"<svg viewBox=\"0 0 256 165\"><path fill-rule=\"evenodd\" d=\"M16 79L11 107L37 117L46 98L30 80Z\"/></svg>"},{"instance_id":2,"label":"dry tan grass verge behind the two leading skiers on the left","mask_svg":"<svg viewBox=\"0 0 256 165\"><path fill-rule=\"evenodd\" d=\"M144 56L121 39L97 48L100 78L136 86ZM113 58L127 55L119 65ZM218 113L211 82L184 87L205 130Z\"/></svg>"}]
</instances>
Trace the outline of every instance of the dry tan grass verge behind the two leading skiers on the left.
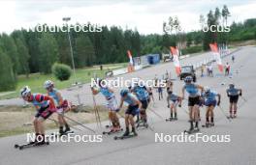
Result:
<instances>
[{"instance_id":1,"label":"dry tan grass verge behind the two leading skiers on the left","mask_svg":"<svg viewBox=\"0 0 256 165\"><path fill-rule=\"evenodd\" d=\"M98 106L101 121L108 120L108 110L105 106ZM95 123L94 109L86 106L80 109L85 112L69 112L66 115L81 124ZM123 111L120 111L123 115ZM1 106L0 107L0 138L6 136L13 136L17 134L24 134L33 132L33 117L35 109L32 106L20 107L20 106ZM57 121L57 115L53 114L50 119ZM69 124L76 125L73 122L68 121ZM46 121L46 129L57 129L58 125L53 121ZM76 129L74 129L76 131Z\"/></svg>"}]
</instances>

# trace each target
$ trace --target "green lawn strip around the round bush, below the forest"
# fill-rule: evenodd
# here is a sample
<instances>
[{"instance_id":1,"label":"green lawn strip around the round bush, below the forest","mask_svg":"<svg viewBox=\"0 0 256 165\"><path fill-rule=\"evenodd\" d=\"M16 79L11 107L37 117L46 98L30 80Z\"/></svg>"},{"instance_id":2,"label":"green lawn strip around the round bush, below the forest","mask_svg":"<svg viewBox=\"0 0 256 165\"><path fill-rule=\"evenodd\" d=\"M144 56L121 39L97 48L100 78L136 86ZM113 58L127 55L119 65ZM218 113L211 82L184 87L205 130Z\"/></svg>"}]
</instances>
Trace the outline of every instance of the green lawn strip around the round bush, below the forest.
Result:
<instances>
[{"instance_id":1,"label":"green lawn strip around the round bush, below the forest","mask_svg":"<svg viewBox=\"0 0 256 165\"><path fill-rule=\"evenodd\" d=\"M71 78L67 81L59 81L52 74L40 74L40 73L32 73L29 75L29 78L26 78L25 75L19 75L17 77L17 86L16 91L14 92L5 92L0 93L0 99L9 99L19 96L19 90L28 85L31 90L35 93L46 93L46 90L43 88L44 82L46 80L54 81L56 87L61 89L66 89L72 86L76 81L80 83L88 83L90 82L90 78L96 74L98 77L104 77L106 71L109 69L121 69L125 68L126 63L121 64L113 64L113 65L104 65L103 70L100 70L99 66L94 66L91 68L84 69L76 69L76 76L72 74Z\"/></svg>"}]
</instances>

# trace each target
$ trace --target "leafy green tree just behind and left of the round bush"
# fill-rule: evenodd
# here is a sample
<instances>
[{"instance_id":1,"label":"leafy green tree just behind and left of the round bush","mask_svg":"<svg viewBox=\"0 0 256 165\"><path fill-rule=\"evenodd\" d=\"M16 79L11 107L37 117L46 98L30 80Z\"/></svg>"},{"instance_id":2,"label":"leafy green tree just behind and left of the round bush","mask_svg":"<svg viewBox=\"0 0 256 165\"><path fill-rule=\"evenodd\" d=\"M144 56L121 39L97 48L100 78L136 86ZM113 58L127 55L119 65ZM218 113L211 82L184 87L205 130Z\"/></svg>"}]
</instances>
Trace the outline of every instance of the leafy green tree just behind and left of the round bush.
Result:
<instances>
[{"instance_id":1,"label":"leafy green tree just behind and left of the round bush","mask_svg":"<svg viewBox=\"0 0 256 165\"><path fill-rule=\"evenodd\" d=\"M43 33L39 39L39 49L41 53L40 66L41 72L50 73L51 66L58 61L58 45L50 33Z\"/></svg>"}]
</instances>

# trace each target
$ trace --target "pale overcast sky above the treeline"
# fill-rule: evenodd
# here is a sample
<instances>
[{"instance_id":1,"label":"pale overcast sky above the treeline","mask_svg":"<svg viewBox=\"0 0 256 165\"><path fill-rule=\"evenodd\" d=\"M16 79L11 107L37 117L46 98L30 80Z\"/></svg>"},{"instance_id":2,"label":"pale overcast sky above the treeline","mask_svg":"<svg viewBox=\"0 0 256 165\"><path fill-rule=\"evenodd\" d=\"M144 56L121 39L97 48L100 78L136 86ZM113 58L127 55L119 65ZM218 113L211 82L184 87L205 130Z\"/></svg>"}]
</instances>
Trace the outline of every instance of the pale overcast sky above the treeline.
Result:
<instances>
[{"instance_id":1,"label":"pale overcast sky above the treeline","mask_svg":"<svg viewBox=\"0 0 256 165\"><path fill-rule=\"evenodd\" d=\"M256 17L252 0L0 0L0 33L10 33L38 23L61 25L63 16L72 23L97 23L135 29L142 34L162 34L163 21L177 15L185 31L199 29L199 15L226 4L229 22Z\"/></svg>"}]
</instances>

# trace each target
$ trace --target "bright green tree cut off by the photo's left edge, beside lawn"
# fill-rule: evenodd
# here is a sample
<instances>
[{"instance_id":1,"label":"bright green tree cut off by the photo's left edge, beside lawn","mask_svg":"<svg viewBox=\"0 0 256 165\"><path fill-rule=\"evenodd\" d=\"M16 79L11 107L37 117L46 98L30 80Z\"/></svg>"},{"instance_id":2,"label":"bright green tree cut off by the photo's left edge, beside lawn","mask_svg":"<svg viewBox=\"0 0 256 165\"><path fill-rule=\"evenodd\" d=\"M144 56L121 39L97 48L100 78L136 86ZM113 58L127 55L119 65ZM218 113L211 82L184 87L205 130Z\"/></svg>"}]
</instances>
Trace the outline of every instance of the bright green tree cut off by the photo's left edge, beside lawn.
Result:
<instances>
[{"instance_id":1,"label":"bright green tree cut off by the photo's left edge, beside lawn","mask_svg":"<svg viewBox=\"0 0 256 165\"><path fill-rule=\"evenodd\" d=\"M0 91L16 89L16 76L13 70L12 60L0 48Z\"/></svg>"}]
</instances>

